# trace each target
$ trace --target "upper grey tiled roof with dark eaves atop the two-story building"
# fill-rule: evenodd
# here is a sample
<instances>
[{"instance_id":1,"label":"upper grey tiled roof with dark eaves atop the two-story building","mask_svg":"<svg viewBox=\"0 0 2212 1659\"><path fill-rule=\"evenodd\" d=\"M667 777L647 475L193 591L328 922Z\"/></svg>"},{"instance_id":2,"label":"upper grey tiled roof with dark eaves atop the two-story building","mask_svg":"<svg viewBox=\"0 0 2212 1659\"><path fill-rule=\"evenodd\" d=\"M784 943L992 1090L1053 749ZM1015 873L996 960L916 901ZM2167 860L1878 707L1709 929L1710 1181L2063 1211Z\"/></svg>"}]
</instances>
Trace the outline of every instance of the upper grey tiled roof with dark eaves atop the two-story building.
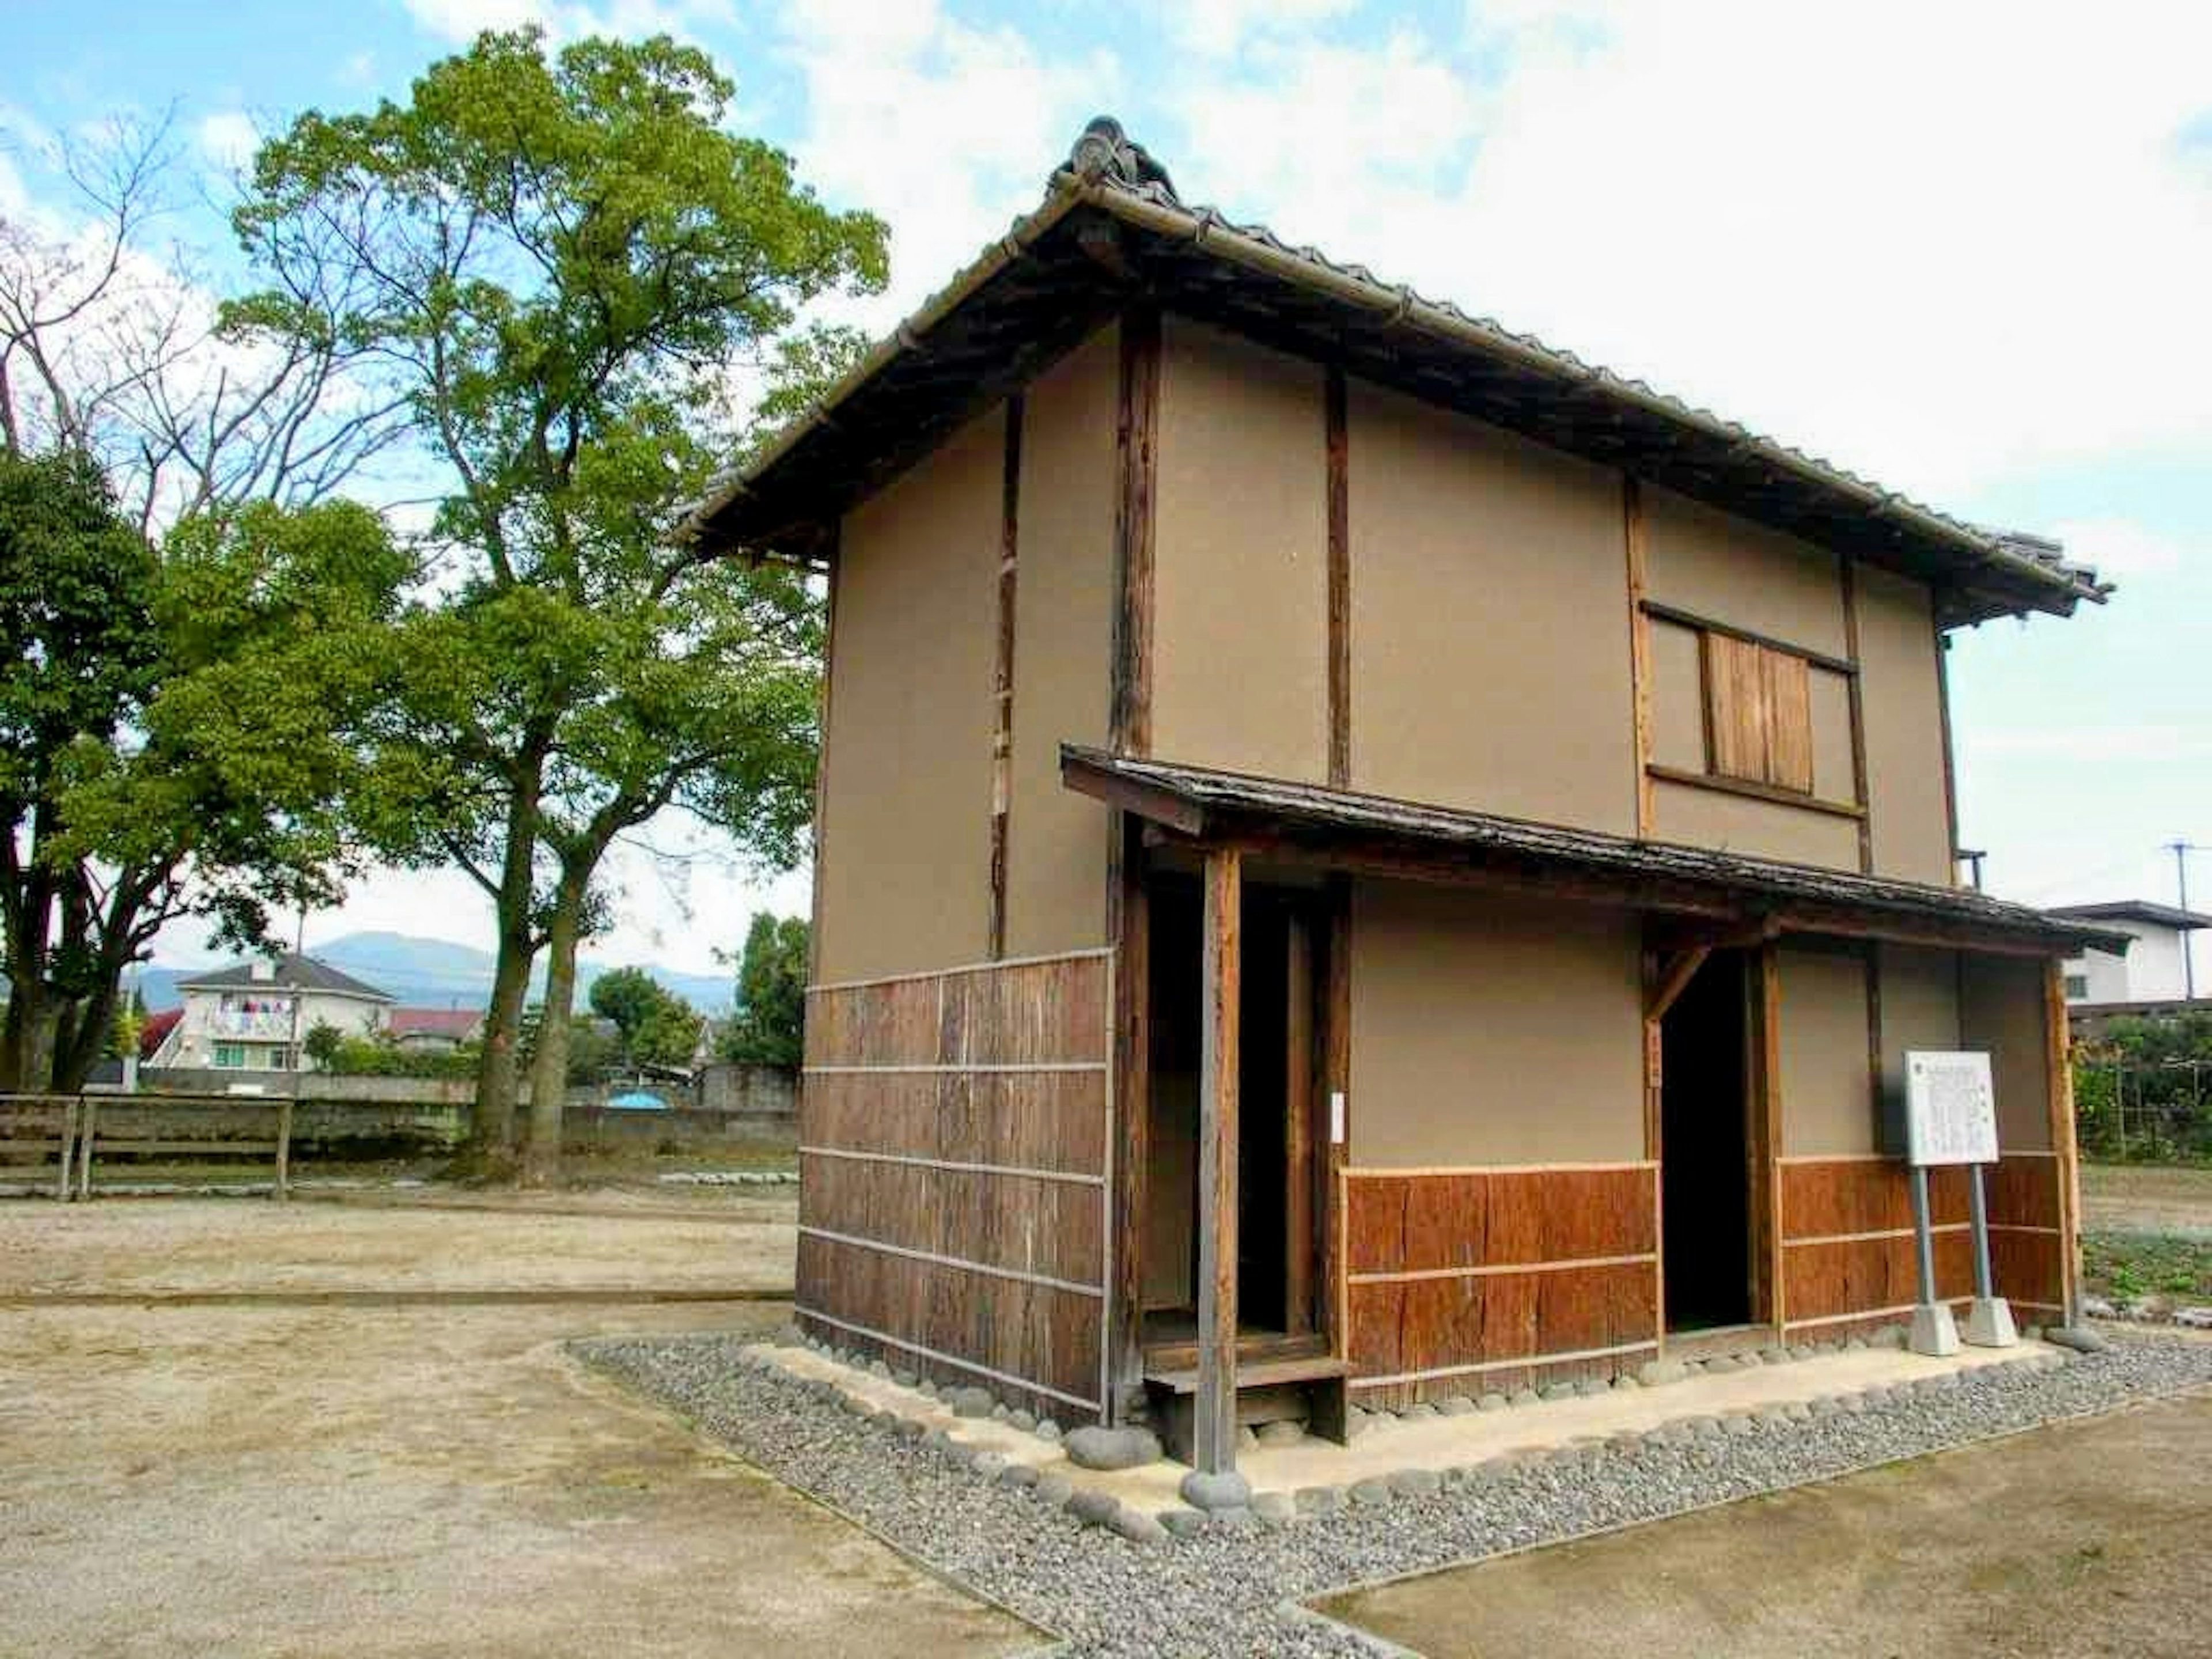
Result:
<instances>
[{"instance_id":1,"label":"upper grey tiled roof with dark eaves atop the two-story building","mask_svg":"<svg viewBox=\"0 0 2212 1659\"><path fill-rule=\"evenodd\" d=\"M823 480L830 478L856 478L852 449L867 440L858 438L856 431L869 422L860 418L865 414L860 409L852 411L852 420L845 418L845 411L863 389L869 389L894 365L909 367L907 361L914 356L938 356L949 383L958 383L969 394L989 392L987 376L956 363L947 347L973 347L964 341L956 343L953 330L945 325L953 323L956 314L989 285L1011 281L1009 272L1024 261L1026 265L1048 263L1044 261L1046 239L1084 208L1104 212L1133 232L1150 234L1170 250L1166 261L1144 270L1146 290L1159 292L1166 303L1183 296L1186 288L1199 285L1188 261L1172 263L1175 254L1192 252L1203 257L1208 265L1237 268L1254 283L1267 281L1303 290L1307 301L1334 307L1352 325L1387 330L1394 341L1418 341L1425 349L1433 349L1438 361L1460 361L1469 365L1469 372L1515 376L1511 392L1528 405L1524 420L1515 425L1546 442L1601 453L1621 465L1639 465L1650 458L1648 471L1659 482L1674 482L1666 476L1666 467L1679 465L1686 476L1683 487L1690 493L1701 493L1750 518L1767 518L1785 529L1805 522L1847 522L1854 538L1874 549L1867 553L1869 557L1880 557L1882 544L1893 542L1902 549L1900 557L1909 553L1944 562L1949 577L1960 586L1971 586L1978 577L1986 580L1993 591L1962 606L1953 619L1980 619L2002 615L2008 608L2066 613L2079 599L2101 602L2110 593L2110 584L2101 582L2090 566L2068 562L2057 542L1969 524L1940 513L1836 462L1657 392L1639 378L1586 363L1531 334L1517 334L1495 319L1460 310L1451 301L1427 299L1405 283L1387 283L1365 265L1334 261L1316 248L1292 248L1265 226L1239 223L1214 208L1188 206L1175 192L1166 170L1141 146L1130 144L1115 122L1104 117L1084 131L1068 164L1053 173L1044 204L1035 212L1018 219L1006 237L991 243L975 263L931 296L816 409L717 484L686 518L684 535L708 542L748 538L772 542L779 531L790 526L792 518L790 502L765 504L776 495L779 473L794 471L799 493L823 491ZM1106 281L1115 261L1130 259L1130 252L1117 246L1099 250L1095 243L1086 243L1086 248L1093 254L1088 268L1086 261L1075 261L1075 268L1093 283ZM1108 270L1099 270L1099 263ZM1051 274L1046 272L1046 276ZM1046 276L1035 276L1033 285L1042 285ZM1133 279L1133 272L1126 276ZM1062 285L1068 283L1064 272L1055 279ZM1064 296L1057 310L1068 310ZM1020 323L1020 314L1015 321ZM1029 323L1029 327L1035 330L1037 323ZM1290 332L1301 330L1292 327ZM1004 352L1004 336L1020 334L1020 327L995 327L989 334L993 349ZM1316 330L1305 327L1303 334L1314 336ZM918 374L909 374L909 378L916 385L922 380ZM887 420L887 431L914 431L916 392L900 387L896 398L887 396L885 400L905 400L905 418ZM832 411L838 416L832 418ZM1632 429L1626 438L1624 427ZM836 442L838 434L843 449ZM878 438L878 442L887 440ZM1683 445L1690 453L1668 460L1666 445ZM810 447L830 449L827 460L834 465L821 473L792 469L794 456ZM1708 487L1701 489L1699 478ZM759 498L759 511L748 498ZM1807 529L1807 533L1814 531Z\"/></svg>"}]
</instances>

